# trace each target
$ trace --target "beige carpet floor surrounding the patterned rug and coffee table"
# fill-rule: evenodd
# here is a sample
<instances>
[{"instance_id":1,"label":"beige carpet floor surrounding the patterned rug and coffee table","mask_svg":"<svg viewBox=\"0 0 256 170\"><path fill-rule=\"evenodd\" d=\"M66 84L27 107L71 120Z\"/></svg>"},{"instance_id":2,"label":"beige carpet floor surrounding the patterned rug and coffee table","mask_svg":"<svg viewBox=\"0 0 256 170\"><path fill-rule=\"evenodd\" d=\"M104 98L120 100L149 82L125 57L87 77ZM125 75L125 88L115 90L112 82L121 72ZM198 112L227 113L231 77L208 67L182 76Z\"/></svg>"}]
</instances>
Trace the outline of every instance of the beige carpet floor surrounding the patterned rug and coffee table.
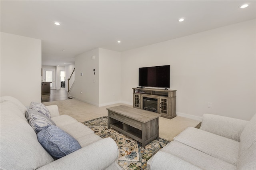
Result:
<instances>
[{"instance_id":1,"label":"beige carpet floor surrounding the patterned rug and coffee table","mask_svg":"<svg viewBox=\"0 0 256 170\"><path fill-rule=\"evenodd\" d=\"M44 102L44 105L58 105L60 115L69 115L78 122L89 121L99 117L107 116L108 107L114 107L118 105L126 105L123 103L118 103L114 105L108 105L104 107L97 107L84 103L76 99L68 99L63 101L50 101ZM130 106L130 105L127 105ZM130 106L132 107L132 106ZM172 141L175 136L177 136L182 130L187 127L196 127L200 122L185 117L175 117L173 119L166 119L163 117L159 118L159 137L166 140Z\"/></svg>"}]
</instances>

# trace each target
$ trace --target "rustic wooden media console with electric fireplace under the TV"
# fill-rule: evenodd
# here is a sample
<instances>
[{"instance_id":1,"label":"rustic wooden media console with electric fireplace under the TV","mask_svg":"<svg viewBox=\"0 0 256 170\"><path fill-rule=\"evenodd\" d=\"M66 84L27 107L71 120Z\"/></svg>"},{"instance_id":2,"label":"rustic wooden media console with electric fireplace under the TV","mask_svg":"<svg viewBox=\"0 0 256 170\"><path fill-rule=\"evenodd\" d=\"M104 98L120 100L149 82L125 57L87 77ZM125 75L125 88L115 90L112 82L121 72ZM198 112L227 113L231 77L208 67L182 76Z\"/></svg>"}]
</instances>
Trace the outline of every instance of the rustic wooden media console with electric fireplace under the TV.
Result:
<instances>
[{"instance_id":1,"label":"rustic wooden media console with electric fireplace under the TV","mask_svg":"<svg viewBox=\"0 0 256 170\"><path fill-rule=\"evenodd\" d=\"M133 107L159 113L161 117L176 117L176 90L132 88Z\"/></svg>"}]
</instances>

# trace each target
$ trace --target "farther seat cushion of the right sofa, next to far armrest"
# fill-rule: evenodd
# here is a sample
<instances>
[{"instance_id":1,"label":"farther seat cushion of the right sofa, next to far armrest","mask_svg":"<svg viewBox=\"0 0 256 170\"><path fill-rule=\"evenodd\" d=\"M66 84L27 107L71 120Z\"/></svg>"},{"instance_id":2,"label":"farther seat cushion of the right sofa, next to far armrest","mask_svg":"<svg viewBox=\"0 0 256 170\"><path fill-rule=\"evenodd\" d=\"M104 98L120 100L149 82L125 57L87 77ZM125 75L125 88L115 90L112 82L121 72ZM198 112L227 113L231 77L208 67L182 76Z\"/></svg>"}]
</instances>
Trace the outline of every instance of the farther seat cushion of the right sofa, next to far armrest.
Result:
<instances>
[{"instance_id":1,"label":"farther seat cushion of the right sofa, next to far armrest","mask_svg":"<svg viewBox=\"0 0 256 170\"><path fill-rule=\"evenodd\" d=\"M236 140L193 127L186 128L174 140L236 166L240 145Z\"/></svg>"}]
</instances>

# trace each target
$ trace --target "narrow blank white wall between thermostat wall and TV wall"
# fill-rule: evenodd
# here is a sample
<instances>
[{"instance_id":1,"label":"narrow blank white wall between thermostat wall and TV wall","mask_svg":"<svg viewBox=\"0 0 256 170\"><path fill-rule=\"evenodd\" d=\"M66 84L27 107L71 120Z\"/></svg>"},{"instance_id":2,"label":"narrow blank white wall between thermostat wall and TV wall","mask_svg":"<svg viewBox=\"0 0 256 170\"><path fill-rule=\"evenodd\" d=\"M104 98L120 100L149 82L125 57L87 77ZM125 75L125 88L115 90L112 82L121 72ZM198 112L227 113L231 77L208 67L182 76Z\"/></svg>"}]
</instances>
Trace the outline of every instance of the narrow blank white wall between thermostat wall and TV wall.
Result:
<instances>
[{"instance_id":1,"label":"narrow blank white wall between thermostat wall and TV wall","mask_svg":"<svg viewBox=\"0 0 256 170\"><path fill-rule=\"evenodd\" d=\"M99 48L99 106L120 103L121 53Z\"/></svg>"}]
</instances>

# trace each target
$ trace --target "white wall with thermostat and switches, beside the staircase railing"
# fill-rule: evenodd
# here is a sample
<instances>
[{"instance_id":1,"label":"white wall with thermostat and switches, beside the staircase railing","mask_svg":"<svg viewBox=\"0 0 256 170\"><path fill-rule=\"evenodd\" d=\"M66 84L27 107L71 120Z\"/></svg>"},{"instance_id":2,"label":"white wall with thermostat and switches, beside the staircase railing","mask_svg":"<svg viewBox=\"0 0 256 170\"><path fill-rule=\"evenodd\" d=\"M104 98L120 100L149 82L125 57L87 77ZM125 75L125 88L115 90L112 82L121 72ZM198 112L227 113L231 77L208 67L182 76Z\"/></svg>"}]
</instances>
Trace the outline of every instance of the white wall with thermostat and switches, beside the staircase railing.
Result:
<instances>
[{"instance_id":1,"label":"white wall with thermostat and switches, beside the staircase railing","mask_svg":"<svg viewBox=\"0 0 256 170\"><path fill-rule=\"evenodd\" d=\"M91 59L92 56L95 58ZM94 75L93 69L96 69L96 75ZM98 106L99 74L97 70L99 70L98 48L77 55L75 57L75 83L72 91L70 91L70 97ZM81 73L83 76L80 76Z\"/></svg>"}]
</instances>

